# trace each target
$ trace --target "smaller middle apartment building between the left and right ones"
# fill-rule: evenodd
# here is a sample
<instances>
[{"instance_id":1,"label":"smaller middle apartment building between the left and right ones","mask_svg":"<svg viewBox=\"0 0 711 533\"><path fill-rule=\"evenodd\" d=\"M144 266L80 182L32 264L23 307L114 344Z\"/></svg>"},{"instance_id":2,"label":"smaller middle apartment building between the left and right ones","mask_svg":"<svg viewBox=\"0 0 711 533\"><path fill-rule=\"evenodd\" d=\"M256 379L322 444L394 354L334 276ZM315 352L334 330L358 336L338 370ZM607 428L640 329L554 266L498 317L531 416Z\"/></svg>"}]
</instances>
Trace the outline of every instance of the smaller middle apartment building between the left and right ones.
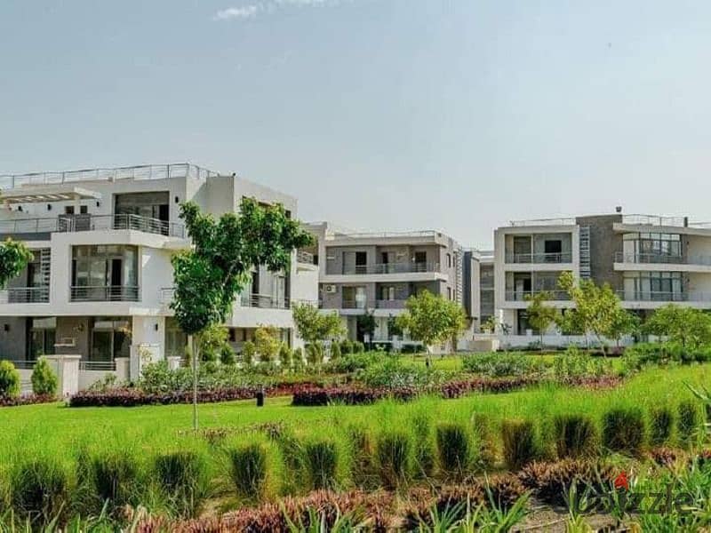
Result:
<instances>
[{"instance_id":1,"label":"smaller middle apartment building between the left and right ones","mask_svg":"<svg viewBox=\"0 0 711 533\"><path fill-rule=\"evenodd\" d=\"M308 225L317 244L309 250L319 269L321 307L338 310L348 337L363 340L359 326L372 314L371 340L393 339L393 320L405 301L429 290L459 302L478 320L478 254L437 231L356 233L327 222Z\"/></svg>"}]
</instances>

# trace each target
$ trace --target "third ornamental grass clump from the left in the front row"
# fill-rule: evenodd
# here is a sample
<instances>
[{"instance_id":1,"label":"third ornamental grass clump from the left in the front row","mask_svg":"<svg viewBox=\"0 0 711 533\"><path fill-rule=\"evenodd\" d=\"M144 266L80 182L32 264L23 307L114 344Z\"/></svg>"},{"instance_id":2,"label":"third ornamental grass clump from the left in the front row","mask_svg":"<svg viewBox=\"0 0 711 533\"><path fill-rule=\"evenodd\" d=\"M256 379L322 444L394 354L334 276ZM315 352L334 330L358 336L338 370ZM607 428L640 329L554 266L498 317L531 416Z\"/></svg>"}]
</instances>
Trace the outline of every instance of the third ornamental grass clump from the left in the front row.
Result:
<instances>
[{"instance_id":1,"label":"third ornamental grass clump from the left in the front row","mask_svg":"<svg viewBox=\"0 0 711 533\"><path fill-rule=\"evenodd\" d=\"M195 517L208 493L207 465L194 451L176 451L156 457L156 479L173 510Z\"/></svg>"}]
</instances>

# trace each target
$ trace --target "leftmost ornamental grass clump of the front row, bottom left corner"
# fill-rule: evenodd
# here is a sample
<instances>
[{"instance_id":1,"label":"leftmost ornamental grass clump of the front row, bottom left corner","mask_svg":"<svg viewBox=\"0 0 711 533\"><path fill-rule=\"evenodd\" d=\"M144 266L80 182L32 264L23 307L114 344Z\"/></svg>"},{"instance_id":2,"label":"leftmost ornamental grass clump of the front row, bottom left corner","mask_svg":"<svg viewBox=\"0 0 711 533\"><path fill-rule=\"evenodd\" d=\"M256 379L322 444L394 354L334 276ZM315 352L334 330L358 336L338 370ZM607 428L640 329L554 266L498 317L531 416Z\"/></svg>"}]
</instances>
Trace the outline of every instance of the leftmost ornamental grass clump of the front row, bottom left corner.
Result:
<instances>
[{"instance_id":1,"label":"leftmost ornamental grass clump of the front row, bottom left corner","mask_svg":"<svg viewBox=\"0 0 711 533\"><path fill-rule=\"evenodd\" d=\"M35 457L16 466L10 477L12 508L22 520L46 524L68 499L68 476L56 458Z\"/></svg>"}]
</instances>

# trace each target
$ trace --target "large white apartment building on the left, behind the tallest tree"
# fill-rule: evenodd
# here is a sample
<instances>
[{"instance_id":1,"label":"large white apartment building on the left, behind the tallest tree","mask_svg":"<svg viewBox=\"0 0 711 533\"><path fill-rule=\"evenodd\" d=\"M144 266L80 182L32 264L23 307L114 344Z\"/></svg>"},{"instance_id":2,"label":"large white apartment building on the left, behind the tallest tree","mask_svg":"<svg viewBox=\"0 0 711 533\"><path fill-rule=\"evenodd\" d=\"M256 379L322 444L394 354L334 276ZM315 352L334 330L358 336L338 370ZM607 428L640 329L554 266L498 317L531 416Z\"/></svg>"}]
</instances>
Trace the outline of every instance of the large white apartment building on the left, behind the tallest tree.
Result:
<instances>
[{"instance_id":1,"label":"large white apartment building on the left, behind the tallest tree","mask_svg":"<svg viewBox=\"0 0 711 533\"><path fill-rule=\"evenodd\" d=\"M297 214L292 196L188 163L0 176L0 189L0 237L34 253L0 291L0 354L20 367L39 354L77 354L86 381L117 371L117 361L135 374L139 353L183 354L169 307L172 254L190 246L180 203L219 216L253 197ZM288 273L252 272L225 324L236 349L262 324L299 343L290 306L316 300L312 263L294 252Z\"/></svg>"}]
</instances>

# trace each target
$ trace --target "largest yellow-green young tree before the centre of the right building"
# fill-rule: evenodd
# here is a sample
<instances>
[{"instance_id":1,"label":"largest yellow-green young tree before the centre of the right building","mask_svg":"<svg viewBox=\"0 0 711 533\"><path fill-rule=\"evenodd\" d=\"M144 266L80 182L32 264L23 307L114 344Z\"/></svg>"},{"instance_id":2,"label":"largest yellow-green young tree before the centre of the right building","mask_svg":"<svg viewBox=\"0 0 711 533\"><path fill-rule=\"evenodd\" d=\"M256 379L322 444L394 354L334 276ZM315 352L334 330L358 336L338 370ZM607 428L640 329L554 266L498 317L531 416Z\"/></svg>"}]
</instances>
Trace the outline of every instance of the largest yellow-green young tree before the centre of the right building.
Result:
<instances>
[{"instance_id":1,"label":"largest yellow-green young tree before the centre of the right building","mask_svg":"<svg viewBox=\"0 0 711 533\"><path fill-rule=\"evenodd\" d=\"M563 317L563 330L581 330L586 338L589 334L594 335L605 354L603 338L614 334L613 328L621 309L615 291L608 283L598 287L591 280L576 282L571 272L561 274L558 285L575 303L575 308Z\"/></svg>"}]
</instances>

